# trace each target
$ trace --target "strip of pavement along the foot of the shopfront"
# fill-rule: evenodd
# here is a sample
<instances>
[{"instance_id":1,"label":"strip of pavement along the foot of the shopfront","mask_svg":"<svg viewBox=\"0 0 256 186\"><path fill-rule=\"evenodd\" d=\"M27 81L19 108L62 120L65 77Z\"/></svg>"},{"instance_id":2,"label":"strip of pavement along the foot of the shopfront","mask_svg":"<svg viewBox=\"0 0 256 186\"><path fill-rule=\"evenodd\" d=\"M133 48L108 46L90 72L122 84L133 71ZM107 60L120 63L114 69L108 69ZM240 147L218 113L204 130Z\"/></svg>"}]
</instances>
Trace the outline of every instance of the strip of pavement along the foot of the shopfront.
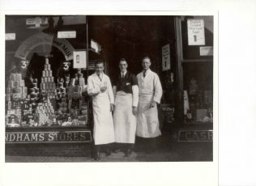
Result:
<instances>
[{"instance_id":1,"label":"strip of pavement along the foot of the shopfront","mask_svg":"<svg viewBox=\"0 0 256 186\"><path fill-rule=\"evenodd\" d=\"M212 161L212 142L170 142L161 137L157 148L150 154L147 153L147 144L139 143L135 146L129 157L119 151L106 156L100 152L100 160L91 157L67 156L12 156L6 155L6 163L64 163L64 162L198 162Z\"/></svg>"}]
</instances>

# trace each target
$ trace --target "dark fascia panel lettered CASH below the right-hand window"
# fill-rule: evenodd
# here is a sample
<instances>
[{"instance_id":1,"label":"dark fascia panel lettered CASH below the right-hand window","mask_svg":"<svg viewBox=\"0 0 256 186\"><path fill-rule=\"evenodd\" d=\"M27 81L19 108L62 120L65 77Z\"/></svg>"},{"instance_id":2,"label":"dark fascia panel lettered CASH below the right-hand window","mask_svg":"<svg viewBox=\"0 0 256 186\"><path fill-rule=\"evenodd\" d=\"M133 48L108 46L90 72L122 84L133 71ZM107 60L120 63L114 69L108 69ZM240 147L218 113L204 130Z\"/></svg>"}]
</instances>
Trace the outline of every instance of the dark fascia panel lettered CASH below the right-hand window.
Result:
<instances>
[{"instance_id":1,"label":"dark fascia panel lettered CASH below the right-hand window","mask_svg":"<svg viewBox=\"0 0 256 186\"><path fill-rule=\"evenodd\" d=\"M212 142L212 130L179 130L178 142Z\"/></svg>"}]
</instances>

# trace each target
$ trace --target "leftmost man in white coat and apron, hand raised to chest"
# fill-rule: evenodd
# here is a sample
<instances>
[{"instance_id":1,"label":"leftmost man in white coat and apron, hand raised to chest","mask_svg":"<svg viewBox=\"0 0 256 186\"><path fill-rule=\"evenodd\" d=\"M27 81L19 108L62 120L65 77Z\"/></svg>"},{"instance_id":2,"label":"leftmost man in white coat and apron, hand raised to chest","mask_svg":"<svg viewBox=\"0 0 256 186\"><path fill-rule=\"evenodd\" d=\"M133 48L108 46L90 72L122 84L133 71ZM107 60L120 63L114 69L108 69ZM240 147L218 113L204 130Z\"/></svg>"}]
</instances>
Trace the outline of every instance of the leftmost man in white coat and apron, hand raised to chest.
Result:
<instances>
[{"instance_id":1,"label":"leftmost man in white coat and apron, hand raised to chest","mask_svg":"<svg viewBox=\"0 0 256 186\"><path fill-rule=\"evenodd\" d=\"M113 89L110 79L103 73L102 62L96 64L96 72L87 79L87 92L92 95L93 137L95 143L95 159L100 159L100 145L107 145L107 155L110 154L109 143L115 141L113 129Z\"/></svg>"}]
</instances>

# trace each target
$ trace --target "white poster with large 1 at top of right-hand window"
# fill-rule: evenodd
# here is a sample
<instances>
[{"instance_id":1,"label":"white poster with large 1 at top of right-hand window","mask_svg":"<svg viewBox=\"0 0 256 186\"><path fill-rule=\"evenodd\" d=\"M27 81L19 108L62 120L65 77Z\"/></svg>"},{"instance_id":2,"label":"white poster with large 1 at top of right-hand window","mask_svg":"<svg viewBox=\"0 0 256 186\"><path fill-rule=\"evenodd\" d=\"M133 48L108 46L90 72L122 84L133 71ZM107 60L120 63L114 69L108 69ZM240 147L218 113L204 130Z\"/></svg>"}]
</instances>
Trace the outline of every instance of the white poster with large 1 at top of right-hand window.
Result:
<instances>
[{"instance_id":1,"label":"white poster with large 1 at top of right-hand window","mask_svg":"<svg viewBox=\"0 0 256 186\"><path fill-rule=\"evenodd\" d=\"M188 19L188 41L189 45L204 45L204 21L203 19Z\"/></svg>"}]
</instances>

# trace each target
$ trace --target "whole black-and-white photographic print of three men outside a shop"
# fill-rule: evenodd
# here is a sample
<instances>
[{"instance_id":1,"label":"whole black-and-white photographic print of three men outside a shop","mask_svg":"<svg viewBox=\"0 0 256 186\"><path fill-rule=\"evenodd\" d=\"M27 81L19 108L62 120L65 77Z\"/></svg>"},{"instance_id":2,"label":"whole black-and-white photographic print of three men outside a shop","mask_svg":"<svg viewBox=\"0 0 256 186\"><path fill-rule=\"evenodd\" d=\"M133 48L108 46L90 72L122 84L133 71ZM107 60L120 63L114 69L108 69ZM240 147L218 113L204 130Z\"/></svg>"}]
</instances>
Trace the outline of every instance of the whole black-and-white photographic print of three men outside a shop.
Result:
<instances>
[{"instance_id":1,"label":"whole black-and-white photographic print of three men outside a shop","mask_svg":"<svg viewBox=\"0 0 256 186\"><path fill-rule=\"evenodd\" d=\"M212 162L215 20L5 15L5 162Z\"/></svg>"}]
</instances>

